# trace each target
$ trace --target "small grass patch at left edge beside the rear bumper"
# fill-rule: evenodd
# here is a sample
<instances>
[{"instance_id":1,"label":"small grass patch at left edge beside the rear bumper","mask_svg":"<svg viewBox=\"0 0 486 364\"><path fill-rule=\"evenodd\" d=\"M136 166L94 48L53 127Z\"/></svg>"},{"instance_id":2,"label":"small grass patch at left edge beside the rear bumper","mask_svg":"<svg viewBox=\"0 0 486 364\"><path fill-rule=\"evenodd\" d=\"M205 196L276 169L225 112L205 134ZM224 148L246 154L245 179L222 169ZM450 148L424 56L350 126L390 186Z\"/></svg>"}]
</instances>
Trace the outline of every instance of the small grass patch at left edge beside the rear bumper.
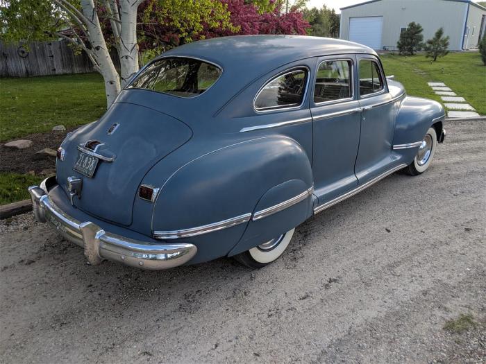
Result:
<instances>
[{"instance_id":1,"label":"small grass patch at left edge beside the rear bumper","mask_svg":"<svg viewBox=\"0 0 486 364\"><path fill-rule=\"evenodd\" d=\"M18 173L0 173L0 205L27 200L27 187L39 184L42 177Z\"/></svg>"}]
</instances>

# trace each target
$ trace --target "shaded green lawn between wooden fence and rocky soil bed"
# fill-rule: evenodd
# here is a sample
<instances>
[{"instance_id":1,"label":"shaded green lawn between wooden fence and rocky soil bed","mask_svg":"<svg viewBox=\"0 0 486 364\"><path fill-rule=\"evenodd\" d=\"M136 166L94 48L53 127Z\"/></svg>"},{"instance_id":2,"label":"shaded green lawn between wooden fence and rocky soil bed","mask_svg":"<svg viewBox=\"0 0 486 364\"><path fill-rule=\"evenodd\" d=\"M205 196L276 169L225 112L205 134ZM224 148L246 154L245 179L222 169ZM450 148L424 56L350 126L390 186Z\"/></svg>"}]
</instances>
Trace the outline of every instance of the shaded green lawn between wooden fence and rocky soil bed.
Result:
<instances>
[{"instance_id":1,"label":"shaded green lawn between wooden fence and rocky soil bed","mask_svg":"<svg viewBox=\"0 0 486 364\"><path fill-rule=\"evenodd\" d=\"M90 123L105 110L98 73L0 78L0 141Z\"/></svg>"}]
</instances>

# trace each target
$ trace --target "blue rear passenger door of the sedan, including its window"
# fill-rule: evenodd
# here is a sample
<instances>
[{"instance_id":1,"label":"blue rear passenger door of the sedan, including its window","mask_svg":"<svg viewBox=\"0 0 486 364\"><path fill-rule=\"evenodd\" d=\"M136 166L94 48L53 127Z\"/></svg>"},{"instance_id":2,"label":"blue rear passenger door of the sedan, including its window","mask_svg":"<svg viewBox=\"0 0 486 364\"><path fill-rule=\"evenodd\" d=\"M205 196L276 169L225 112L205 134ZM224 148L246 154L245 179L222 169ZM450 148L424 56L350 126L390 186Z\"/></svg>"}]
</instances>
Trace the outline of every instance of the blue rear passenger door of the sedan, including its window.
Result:
<instances>
[{"instance_id":1,"label":"blue rear passenger door of the sedan, including its window","mask_svg":"<svg viewBox=\"0 0 486 364\"><path fill-rule=\"evenodd\" d=\"M312 173L319 205L358 185L354 164L360 141L360 104L355 95L355 55L317 60L310 112Z\"/></svg>"}]
</instances>

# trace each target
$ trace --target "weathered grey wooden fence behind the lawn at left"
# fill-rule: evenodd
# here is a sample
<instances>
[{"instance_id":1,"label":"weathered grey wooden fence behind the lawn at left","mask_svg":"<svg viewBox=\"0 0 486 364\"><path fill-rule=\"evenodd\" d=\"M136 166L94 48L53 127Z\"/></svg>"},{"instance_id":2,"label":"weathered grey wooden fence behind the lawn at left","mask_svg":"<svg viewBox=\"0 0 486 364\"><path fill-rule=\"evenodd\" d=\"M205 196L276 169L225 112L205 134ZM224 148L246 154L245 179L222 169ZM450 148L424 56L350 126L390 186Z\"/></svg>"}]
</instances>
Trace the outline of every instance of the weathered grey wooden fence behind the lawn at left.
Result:
<instances>
[{"instance_id":1,"label":"weathered grey wooden fence behind the lawn at left","mask_svg":"<svg viewBox=\"0 0 486 364\"><path fill-rule=\"evenodd\" d=\"M116 51L111 53L119 69ZM94 71L85 52L75 54L65 40L3 44L0 42L0 77L28 77Z\"/></svg>"}]
</instances>

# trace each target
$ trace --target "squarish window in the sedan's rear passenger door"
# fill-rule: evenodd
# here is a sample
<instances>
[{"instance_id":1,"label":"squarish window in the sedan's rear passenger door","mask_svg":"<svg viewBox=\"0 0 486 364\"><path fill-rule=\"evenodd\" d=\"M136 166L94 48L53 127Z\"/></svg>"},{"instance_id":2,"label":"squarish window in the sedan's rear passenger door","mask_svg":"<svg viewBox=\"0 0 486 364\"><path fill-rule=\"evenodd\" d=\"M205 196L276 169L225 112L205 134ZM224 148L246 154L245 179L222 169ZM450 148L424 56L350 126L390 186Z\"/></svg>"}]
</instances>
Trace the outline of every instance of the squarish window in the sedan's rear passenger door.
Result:
<instances>
[{"instance_id":1,"label":"squarish window in the sedan's rear passenger door","mask_svg":"<svg viewBox=\"0 0 486 364\"><path fill-rule=\"evenodd\" d=\"M351 60L330 60L319 64L314 87L314 102L324 103L351 98Z\"/></svg>"}]
</instances>

